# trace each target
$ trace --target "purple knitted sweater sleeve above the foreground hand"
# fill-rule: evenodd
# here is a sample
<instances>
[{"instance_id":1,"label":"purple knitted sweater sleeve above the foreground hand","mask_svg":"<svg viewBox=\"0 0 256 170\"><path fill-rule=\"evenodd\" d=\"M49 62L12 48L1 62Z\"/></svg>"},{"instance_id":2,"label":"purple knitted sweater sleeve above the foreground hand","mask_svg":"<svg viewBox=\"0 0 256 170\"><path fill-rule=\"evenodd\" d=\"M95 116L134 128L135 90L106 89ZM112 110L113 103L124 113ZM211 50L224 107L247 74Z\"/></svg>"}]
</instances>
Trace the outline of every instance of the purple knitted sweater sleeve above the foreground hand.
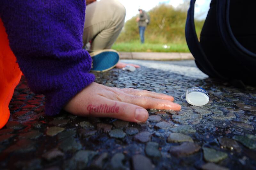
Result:
<instances>
[{"instance_id":1,"label":"purple knitted sweater sleeve above the foreground hand","mask_svg":"<svg viewBox=\"0 0 256 170\"><path fill-rule=\"evenodd\" d=\"M0 0L0 17L20 70L56 115L94 81L92 59L82 49L85 0Z\"/></svg>"}]
</instances>

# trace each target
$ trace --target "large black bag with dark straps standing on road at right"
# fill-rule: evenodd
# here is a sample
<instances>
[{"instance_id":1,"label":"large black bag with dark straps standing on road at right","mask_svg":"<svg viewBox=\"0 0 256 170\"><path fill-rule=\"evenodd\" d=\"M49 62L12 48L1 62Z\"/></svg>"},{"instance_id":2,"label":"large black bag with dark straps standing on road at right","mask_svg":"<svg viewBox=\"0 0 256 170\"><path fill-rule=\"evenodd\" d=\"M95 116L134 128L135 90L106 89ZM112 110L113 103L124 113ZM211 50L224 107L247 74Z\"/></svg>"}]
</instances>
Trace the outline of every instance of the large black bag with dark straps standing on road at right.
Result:
<instances>
[{"instance_id":1,"label":"large black bag with dark straps standing on road at right","mask_svg":"<svg viewBox=\"0 0 256 170\"><path fill-rule=\"evenodd\" d=\"M185 34L198 68L213 78L256 85L256 1L212 0L200 42L195 2L190 1Z\"/></svg>"}]
</instances>

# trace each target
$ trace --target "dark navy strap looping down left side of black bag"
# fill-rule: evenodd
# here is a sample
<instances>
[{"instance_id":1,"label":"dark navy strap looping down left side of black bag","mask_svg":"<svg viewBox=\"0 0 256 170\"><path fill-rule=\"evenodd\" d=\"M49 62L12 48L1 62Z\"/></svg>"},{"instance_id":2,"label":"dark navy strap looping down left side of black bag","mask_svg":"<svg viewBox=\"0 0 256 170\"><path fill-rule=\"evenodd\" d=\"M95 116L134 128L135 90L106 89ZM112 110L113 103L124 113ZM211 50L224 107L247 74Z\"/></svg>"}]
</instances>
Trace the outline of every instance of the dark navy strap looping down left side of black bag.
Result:
<instances>
[{"instance_id":1,"label":"dark navy strap looping down left side of black bag","mask_svg":"<svg viewBox=\"0 0 256 170\"><path fill-rule=\"evenodd\" d=\"M206 57L196 35L195 21L194 21L194 10L196 0L190 1L190 7L188 9L188 17L186 21L185 35L188 48L192 55L196 58L196 63L201 66L201 70L211 77L217 77L227 79L220 75L212 66L208 58Z\"/></svg>"}]
</instances>

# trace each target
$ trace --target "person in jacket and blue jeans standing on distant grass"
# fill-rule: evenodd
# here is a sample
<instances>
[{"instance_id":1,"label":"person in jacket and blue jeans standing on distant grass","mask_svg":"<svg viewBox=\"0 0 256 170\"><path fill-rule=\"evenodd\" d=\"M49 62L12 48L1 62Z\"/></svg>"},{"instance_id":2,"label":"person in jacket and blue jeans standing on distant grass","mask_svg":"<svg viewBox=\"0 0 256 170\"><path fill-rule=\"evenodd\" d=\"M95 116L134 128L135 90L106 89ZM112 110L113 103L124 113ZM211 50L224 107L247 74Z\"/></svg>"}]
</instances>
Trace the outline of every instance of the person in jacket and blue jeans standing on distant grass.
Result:
<instances>
[{"instance_id":1,"label":"person in jacket and blue jeans standing on distant grass","mask_svg":"<svg viewBox=\"0 0 256 170\"><path fill-rule=\"evenodd\" d=\"M147 14L145 11L139 8L140 17L137 18L137 22L139 23L139 33L140 33L140 42L141 44L144 43L144 33L147 27Z\"/></svg>"}]
</instances>

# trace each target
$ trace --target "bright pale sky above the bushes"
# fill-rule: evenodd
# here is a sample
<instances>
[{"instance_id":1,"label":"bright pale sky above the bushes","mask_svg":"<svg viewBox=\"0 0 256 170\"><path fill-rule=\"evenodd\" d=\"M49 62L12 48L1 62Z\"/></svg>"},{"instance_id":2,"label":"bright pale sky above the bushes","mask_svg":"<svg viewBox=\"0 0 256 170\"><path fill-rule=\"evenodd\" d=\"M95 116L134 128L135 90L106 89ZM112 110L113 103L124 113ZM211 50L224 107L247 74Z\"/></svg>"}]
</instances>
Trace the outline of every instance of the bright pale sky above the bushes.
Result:
<instances>
[{"instance_id":1,"label":"bright pale sky above the bushes","mask_svg":"<svg viewBox=\"0 0 256 170\"><path fill-rule=\"evenodd\" d=\"M183 0L119 0L126 8L125 21L138 14L139 7L145 11L149 11L160 3L171 4L178 7ZM209 10L211 0L196 0L195 17L204 19Z\"/></svg>"}]
</instances>

